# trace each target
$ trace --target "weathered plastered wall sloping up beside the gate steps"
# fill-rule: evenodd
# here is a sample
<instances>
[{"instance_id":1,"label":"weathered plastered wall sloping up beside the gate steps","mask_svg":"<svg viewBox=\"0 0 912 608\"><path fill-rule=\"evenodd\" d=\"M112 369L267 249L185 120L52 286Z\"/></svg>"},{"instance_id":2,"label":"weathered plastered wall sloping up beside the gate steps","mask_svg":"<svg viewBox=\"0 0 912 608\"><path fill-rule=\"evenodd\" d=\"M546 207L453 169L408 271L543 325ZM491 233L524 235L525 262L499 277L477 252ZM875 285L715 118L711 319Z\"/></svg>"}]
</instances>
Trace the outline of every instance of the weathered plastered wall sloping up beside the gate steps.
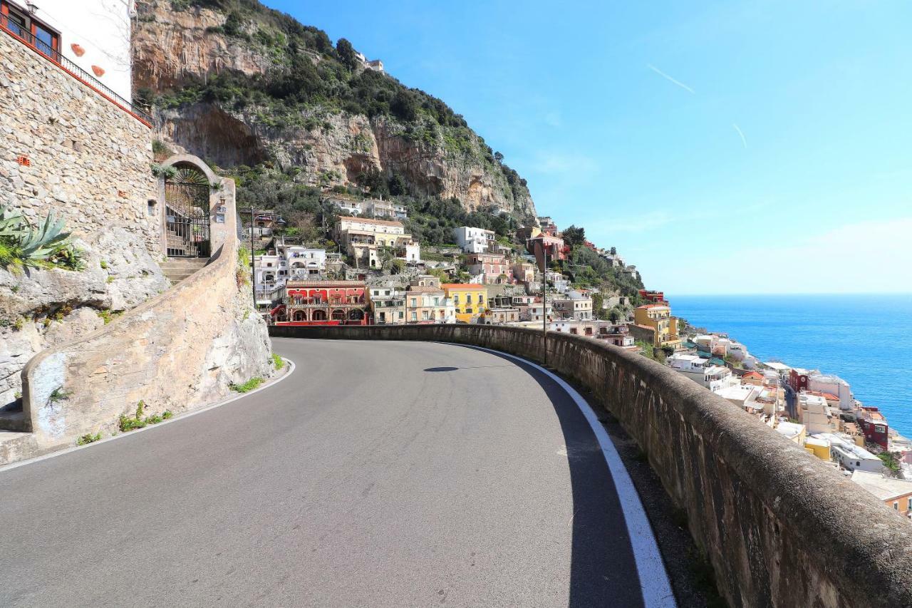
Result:
<instances>
[{"instance_id":1,"label":"weathered plastered wall sloping up beside the gate steps","mask_svg":"<svg viewBox=\"0 0 912 608\"><path fill-rule=\"evenodd\" d=\"M233 205L233 181L223 188ZM254 326L262 321L244 315L251 296L238 284L235 217L226 215L222 234L213 235L215 254L192 277L26 363L31 434L15 453L0 454L0 464L72 446L79 435L116 432L119 415L133 415L140 400L146 414L178 414L217 401L229 383L271 373L265 332Z\"/></svg>"}]
</instances>

